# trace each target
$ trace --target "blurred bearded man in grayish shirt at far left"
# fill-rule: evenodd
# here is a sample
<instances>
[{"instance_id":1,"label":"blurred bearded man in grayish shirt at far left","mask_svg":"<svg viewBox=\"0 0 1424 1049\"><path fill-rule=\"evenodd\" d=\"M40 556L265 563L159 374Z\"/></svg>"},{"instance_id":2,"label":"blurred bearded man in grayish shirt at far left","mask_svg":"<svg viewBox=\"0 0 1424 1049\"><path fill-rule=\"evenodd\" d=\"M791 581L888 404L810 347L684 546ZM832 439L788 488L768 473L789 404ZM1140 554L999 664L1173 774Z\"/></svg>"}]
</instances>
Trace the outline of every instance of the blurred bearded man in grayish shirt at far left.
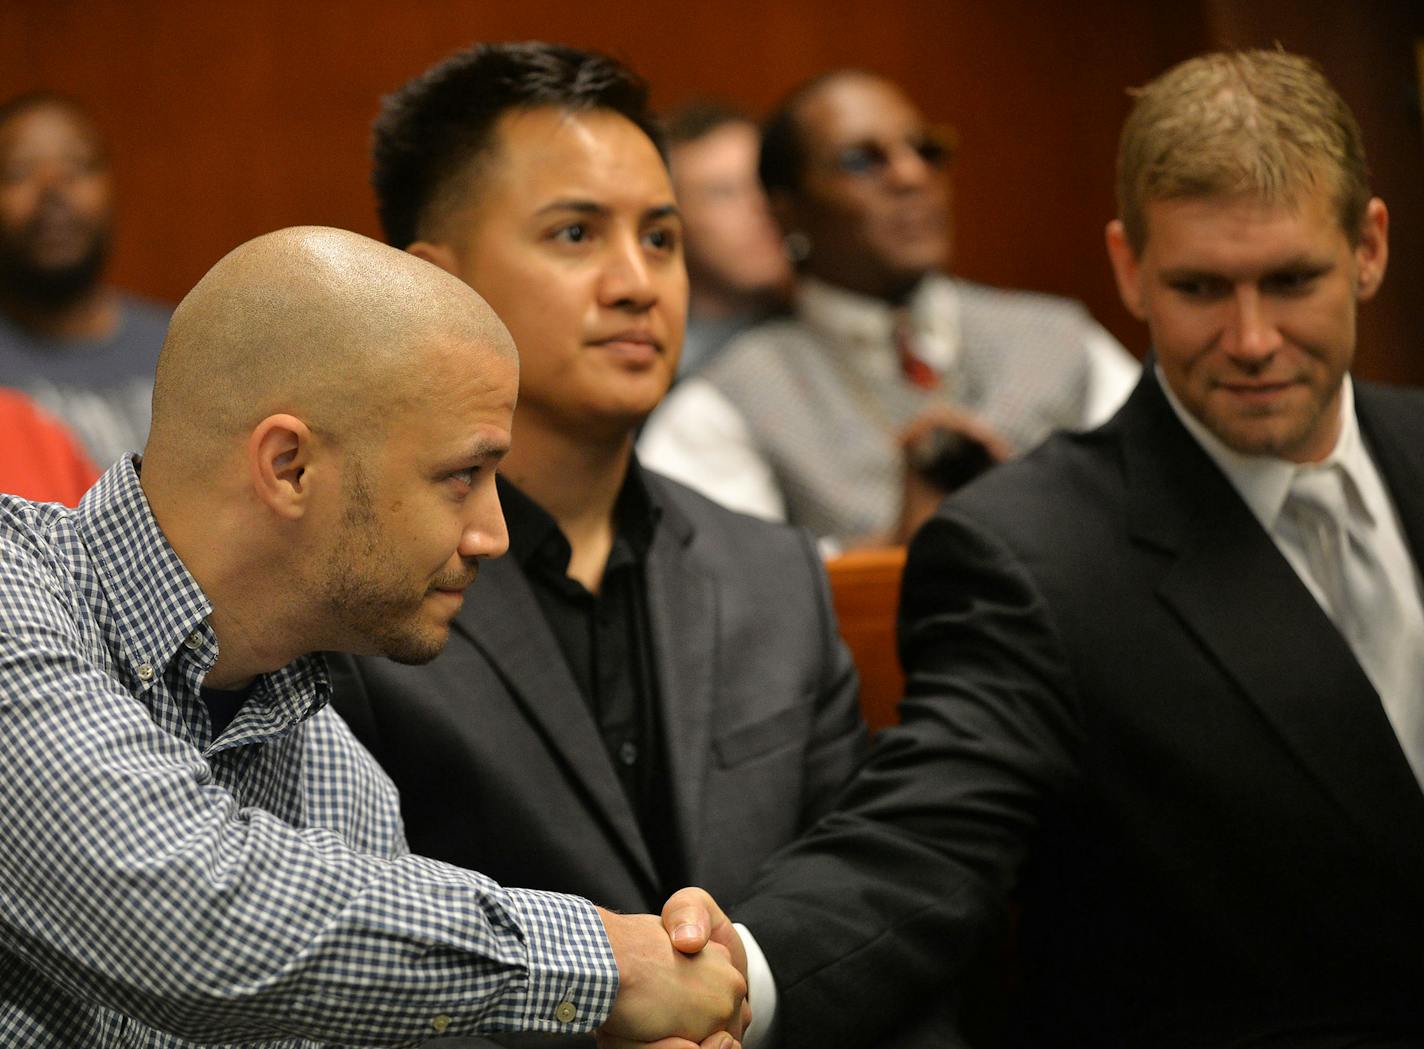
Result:
<instances>
[{"instance_id":1,"label":"blurred bearded man in grayish shirt at far left","mask_svg":"<svg viewBox=\"0 0 1424 1049\"><path fill-rule=\"evenodd\" d=\"M58 416L101 467L144 447L168 310L103 282L108 149L71 98L0 105L0 383Z\"/></svg>"}]
</instances>

